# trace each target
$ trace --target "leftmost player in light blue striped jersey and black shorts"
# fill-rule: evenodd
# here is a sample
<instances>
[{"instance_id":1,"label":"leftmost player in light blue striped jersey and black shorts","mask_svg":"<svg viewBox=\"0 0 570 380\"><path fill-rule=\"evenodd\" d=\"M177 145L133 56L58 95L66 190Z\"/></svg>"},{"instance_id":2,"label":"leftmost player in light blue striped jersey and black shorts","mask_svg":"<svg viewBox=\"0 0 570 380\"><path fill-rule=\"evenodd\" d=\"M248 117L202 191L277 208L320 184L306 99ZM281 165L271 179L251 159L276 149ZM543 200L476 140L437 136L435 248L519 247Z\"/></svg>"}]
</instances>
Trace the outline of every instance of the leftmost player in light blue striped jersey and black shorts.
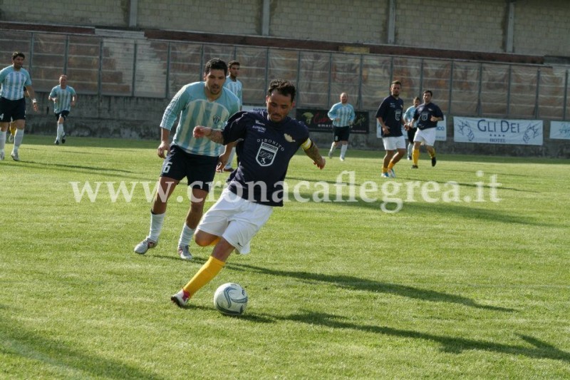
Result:
<instances>
[{"instance_id":1,"label":"leftmost player in light blue striped jersey and black shorts","mask_svg":"<svg viewBox=\"0 0 570 380\"><path fill-rule=\"evenodd\" d=\"M31 86L31 78L24 66L24 53L16 51L12 54L11 66L0 71L0 161L4 160L4 146L6 145L6 130L11 120L16 122L16 134L14 135L14 148L11 157L15 161L20 160L19 149L24 139L24 127L26 126L26 98L24 87L31 98L33 111L38 112L36 93Z\"/></svg>"}]
</instances>

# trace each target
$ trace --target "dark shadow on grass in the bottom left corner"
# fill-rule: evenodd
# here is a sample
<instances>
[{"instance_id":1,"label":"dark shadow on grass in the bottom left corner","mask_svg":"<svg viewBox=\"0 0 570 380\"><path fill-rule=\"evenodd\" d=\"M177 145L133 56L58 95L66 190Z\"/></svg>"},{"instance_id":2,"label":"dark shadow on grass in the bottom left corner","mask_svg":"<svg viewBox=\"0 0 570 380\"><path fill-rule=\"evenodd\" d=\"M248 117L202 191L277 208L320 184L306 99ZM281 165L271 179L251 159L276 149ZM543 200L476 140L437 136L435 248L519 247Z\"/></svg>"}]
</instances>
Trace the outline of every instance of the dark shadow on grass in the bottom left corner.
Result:
<instances>
[{"instance_id":1,"label":"dark shadow on grass in the bottom left corner","mask_svg":"<svg viewBox=\"0 0 570 380\"><path fill-rule=\"evenodd\" d=\"M0 321L0 351L41 362L63 377L69 375L68 371L79 371L81 374L75 375L101 379L165 379L123 361L86 354L61 342L58 337L42 337L33 330L17 327L16 320L4 318Z\"/></svg>"}]
</instances>

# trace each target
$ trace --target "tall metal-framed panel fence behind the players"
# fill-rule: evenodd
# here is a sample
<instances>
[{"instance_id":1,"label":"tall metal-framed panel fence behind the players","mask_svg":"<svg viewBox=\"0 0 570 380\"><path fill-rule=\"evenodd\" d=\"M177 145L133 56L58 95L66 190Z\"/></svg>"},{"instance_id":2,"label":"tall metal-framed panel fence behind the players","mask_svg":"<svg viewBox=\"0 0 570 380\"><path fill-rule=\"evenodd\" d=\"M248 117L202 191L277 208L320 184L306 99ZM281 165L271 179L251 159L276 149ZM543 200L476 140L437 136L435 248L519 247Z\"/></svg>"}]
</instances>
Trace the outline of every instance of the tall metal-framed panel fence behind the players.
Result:
<instances>
[{"instance_id":1,"label":"tall metal-framed panel fence behind the players","mask_svg":"<svg viewBox=\"0 0 570 380\"><path fill-rule=\"evenodd\" d=\"M327 53L283 48L155 41L0 29L0 57L14 51L36 91L49 91L66 73L79 94L171 98L186 83L202 80L209 58L241 63L244 103L264 103L273 78L296 83L297 106L329 108L346 92L353 106L374 111L390 82L403 83L406 106L423 90L452 115L568 120L568 66ZM1 66L1 65L0 65ZM420 96L421 98L421 96Z\"/></svg>"}]
</instances>

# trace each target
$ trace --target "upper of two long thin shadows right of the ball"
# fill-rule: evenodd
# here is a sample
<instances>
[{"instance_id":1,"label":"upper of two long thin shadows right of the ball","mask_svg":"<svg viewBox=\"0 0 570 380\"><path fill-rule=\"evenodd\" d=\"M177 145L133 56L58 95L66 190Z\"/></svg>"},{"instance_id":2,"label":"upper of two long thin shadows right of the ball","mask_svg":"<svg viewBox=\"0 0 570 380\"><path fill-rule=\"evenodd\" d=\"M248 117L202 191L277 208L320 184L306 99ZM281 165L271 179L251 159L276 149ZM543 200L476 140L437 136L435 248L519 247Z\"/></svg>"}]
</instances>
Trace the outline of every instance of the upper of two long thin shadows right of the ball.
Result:
<instances>
[{"instance_id":1,"label":"upper of two long thin shadows right of the ball","mask_svg":"<svg viewBox=\"0 0 570 380\"><path fill-rule=\"evenodd\" d=\"M312 272L291 272L283 270L273 270L261 267L254 267L253 265L245 264L232 264L228 263L227 267L250 270L261 274L271 274L272 276L293 277L304 281L325 282L333 284L343 289L364 290L367 292L396 294L401 297L408 297L414 299L421 299L430 302L448 302L453 304L462 304L467 307L475 307L476 309L486 309L496 312L515 312L515 309L506 307L497 307L478 304L474 300L458 296L455 294L448 294L443 292L435 292L429 289L420 289L417 287L408 287L399 284L390 284L388 282L378 282L371 279L363 279L353 276L344 276L342 274L319 274Z\"/></svg>"}]
</instances>

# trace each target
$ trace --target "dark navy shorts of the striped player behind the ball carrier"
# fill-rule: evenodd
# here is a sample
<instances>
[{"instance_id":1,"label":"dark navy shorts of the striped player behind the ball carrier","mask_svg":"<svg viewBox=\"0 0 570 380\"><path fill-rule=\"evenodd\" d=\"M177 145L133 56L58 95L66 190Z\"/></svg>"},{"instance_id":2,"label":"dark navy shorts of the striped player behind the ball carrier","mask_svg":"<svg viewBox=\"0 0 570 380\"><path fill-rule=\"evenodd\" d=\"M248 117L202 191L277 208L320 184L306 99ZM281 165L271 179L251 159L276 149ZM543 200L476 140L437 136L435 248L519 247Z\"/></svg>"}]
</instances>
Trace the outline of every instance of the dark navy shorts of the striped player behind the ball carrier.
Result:
<instances>
[{"instance_id":1,"label":"dark navy shorts of the striped player behind the ball carrier","mask_svg":"<svg viewBox=\"0 0 570 380\"><path fill-rule=\"evenodd\" d=\"M162 163L160 177L177 181L187 178L188 186L209 192L216 175L218 157L192 155L177 145L170 146L170 152Z\"/></svg>"}]
</instances>

